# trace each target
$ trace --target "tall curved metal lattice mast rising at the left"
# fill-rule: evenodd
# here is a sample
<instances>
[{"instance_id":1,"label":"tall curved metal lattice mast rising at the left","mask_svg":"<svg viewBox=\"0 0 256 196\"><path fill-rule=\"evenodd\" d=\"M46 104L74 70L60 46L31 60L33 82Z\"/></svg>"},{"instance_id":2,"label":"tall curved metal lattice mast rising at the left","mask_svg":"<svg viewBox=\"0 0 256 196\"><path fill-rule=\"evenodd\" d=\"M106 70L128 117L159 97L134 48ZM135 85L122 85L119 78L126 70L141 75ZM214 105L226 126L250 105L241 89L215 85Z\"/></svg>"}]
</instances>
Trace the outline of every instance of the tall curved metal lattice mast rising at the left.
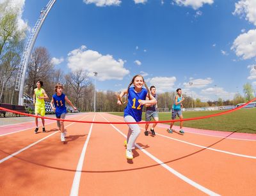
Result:
<instances>
[{"instance_id":1,"label":"tall curved metal lattice mast rising at the left","mask_svg":"<svg viewBox=\"0 0 256 196\"><path fill-rule=\"evenodd\" d=\"M47 5L41 10L40 17L36 21L35 26L33 27L31 34L29 34L28 41L26 43L26 47L24 49L24 52L22 54L19 70L17 74L17 79L15 82L15 91L19 91L19 105L24 104L24 84L25 84L25 77L26 77L26 70L28 68L28 61L29 57L31 55L31 51L34 47L36 37L42 27L42 24L44 23L45 18L47 17L49 11L51 10L52 6L56 0L50 0Z\"/></svg>"}]
</instances>

